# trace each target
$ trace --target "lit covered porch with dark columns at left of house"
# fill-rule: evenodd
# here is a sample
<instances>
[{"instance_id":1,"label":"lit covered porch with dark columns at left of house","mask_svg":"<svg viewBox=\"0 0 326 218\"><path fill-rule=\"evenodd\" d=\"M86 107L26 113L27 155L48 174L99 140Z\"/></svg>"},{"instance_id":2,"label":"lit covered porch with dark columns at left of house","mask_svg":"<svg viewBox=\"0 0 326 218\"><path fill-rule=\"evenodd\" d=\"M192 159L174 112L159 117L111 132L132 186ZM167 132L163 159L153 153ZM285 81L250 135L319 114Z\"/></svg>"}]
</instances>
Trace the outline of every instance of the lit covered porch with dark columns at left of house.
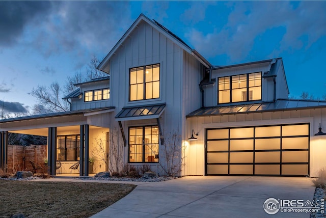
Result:
<instances>
[{"instance_id":1,"label":"lit covered porch with dark columns at left of house","mask_svg":"<svg viewBox=\"0 0 326 218\"><path fill-rule=\"evenodd\" d=\"M107 171L109 128L104 121L112 111L106 107L1 120L0 167L7 170L8 134L20 133L47 137L47 166L44 162L38 165L47 168L51 176L90 176Z\"/></svg>"}]
</instances>

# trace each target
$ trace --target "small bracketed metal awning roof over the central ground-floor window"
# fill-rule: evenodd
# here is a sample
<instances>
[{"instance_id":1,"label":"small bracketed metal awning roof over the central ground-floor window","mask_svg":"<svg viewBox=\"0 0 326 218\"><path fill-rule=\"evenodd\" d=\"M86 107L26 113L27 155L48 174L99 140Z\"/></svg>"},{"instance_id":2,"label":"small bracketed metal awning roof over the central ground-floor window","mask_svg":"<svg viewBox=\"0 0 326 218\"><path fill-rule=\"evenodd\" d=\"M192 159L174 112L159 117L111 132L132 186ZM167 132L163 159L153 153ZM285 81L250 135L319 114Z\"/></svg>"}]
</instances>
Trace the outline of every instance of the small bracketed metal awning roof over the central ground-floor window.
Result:
<instances>
[{"instance_id":1,"label":"small bracketed metal awning roof over the central ground-floor window","mask_svg":"<svg viewBox=\"0 0 326 218\"><path fill-rule=\"evenodd\" d=\"M133 118L133 117L144 117L149 115L159 115L165 108L164 104L151 104L151 105L141 105L133 107L123 107L122 110L116 115L116 119L121 118Z\"/></svg>"}]
</instances>

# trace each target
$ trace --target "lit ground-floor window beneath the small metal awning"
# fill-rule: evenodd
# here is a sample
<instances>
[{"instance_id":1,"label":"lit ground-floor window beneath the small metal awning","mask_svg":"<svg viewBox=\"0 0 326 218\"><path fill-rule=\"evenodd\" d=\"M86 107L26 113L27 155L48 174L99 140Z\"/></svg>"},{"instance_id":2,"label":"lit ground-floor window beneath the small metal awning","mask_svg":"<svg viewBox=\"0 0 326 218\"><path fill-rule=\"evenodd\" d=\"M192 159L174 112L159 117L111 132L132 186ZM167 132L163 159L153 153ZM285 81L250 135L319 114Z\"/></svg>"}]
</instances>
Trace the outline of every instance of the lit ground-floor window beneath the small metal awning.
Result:
<instances>
[{"instance_id":1,"label":"lit ground-floor window beneath the small metal awning","mask_svg":"<svg viewBox=\"0 0 326 218\"><path fill-rule=\"evenodd\" d=\"M158 162L158 126L129 128L129 162Z\"/></svg>"}]
</instances>

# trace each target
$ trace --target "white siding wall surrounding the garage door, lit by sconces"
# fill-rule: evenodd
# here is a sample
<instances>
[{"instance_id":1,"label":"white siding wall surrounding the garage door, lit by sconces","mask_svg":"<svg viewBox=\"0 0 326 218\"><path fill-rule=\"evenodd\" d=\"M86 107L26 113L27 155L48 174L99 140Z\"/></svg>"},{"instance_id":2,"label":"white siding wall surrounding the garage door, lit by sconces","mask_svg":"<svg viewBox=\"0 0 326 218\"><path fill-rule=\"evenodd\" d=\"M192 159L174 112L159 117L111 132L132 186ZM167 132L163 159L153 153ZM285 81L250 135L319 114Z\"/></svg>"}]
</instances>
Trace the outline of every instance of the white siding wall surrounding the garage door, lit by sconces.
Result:
<instances>
[{"instance_id":1,"label":"white siding wall surrounding the garage door, lit by sconces","mask_svg":"<svg viewBox=\"0 0 326 218\"><path fill-rule=\"evenodd\" d=\"M317 171L326 166L326 137L315 136L319 123L326 123L326 109L316 108L297 111L265 112L254 114L224 115L212 117L188 118L188 126L193 129L233 128L270 125L309 124L309 173L317 176ZM323 128L324 130L325 128ZM184 175L205 175L205 132L198 141L192 141L185 159Z\"/></svg>"}]
</instances>

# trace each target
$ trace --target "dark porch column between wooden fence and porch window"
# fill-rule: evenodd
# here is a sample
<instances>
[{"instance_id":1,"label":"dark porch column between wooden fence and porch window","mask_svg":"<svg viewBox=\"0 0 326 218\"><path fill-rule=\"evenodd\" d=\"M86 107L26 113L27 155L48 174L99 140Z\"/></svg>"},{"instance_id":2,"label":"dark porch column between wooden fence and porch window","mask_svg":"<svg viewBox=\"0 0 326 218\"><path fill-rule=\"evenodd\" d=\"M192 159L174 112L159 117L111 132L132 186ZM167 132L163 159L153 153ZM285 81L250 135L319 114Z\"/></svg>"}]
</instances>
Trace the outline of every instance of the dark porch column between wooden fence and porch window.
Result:
<instances>
[{"instance_id":1,"label":"dark porch column between wooden fence and porch window","mask_svg":"<svg viewBox=\"0 0 326 218\"><path fill-rule=\"evenodd\" d=\"M48 158L47 165L50 170L50 175L55 176L57 172L56 161L57 161L57 127L49 127L48 137Z\"/></svg>"}]
</instances>

